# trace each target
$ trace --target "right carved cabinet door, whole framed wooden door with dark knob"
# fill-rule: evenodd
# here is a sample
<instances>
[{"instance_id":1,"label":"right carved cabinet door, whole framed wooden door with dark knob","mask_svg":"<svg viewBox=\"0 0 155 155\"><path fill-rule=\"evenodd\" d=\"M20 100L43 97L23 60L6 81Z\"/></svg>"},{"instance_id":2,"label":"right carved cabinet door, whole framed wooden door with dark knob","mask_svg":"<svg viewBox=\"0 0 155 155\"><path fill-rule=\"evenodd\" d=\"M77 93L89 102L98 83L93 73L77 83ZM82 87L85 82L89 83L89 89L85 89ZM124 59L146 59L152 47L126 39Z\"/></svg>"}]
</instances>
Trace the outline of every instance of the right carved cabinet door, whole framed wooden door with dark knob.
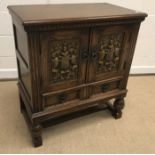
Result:
<instances>
[{"instance_id":1,"label":"right carved cabinet door, whole framed wooden door with dark knob","mask_svg":"<svg viewBox=\"0 0 155 155\"><path fill-rule=\"evenodd\" d=\"M88 82L123 74L129 36L128 25L92 29Z\"/></svg>"}]
</instances>

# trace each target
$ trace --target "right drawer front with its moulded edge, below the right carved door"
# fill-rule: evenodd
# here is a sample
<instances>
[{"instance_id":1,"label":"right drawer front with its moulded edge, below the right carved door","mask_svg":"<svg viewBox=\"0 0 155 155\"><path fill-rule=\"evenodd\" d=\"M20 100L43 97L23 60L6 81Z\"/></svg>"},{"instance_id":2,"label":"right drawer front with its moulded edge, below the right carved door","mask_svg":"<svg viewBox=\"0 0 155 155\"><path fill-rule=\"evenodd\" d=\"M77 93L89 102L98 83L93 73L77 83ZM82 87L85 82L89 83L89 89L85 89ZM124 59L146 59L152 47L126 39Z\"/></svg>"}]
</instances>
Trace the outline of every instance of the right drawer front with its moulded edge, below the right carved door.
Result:
<instances>
[{"instance_id":1,"label":"right drawer front with its moulded edge, below the right carved door","mask_svg":"<svg viewBox=\"0 0 155 155\"><path fill-rule=\"evenodd\" d=\"M120 87L121 80L104 83L100 82L98 84L90 86L89 96L108 93L110 91L120 89Z\"/></svg>"}]
</instances>

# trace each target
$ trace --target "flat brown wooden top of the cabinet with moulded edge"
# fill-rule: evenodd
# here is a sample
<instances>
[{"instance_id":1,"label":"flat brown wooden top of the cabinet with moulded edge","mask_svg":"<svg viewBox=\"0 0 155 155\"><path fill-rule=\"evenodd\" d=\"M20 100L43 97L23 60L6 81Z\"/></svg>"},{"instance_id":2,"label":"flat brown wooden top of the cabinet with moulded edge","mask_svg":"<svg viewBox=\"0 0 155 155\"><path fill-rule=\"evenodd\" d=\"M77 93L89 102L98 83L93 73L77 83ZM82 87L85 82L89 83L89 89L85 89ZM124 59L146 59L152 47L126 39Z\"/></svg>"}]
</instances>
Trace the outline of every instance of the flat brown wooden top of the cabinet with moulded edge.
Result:
<instances>
[{"instance_id":1,"label":"flat brown wooden top of the cabinet with moulded edge","mask_svg":"<svg viewBox=\"0 0 155 155\"><path fill-rule=\"evenodd\" d=\"M144 19L147 14L108 3L8 6L24 25L88 21L95 19Z\"/></svg>"}]
</instances>

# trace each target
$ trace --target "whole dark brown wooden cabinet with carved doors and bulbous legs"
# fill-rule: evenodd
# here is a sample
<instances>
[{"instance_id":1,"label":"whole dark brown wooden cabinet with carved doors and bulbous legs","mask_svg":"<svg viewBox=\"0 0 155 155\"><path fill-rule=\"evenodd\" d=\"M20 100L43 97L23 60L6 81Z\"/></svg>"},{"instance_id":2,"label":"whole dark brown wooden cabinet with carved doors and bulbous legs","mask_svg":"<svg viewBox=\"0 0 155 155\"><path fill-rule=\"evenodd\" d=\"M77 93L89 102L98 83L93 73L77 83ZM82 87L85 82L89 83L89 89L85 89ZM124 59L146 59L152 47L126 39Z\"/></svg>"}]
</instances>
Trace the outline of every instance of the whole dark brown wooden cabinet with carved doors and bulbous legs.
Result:
<instances>
[{"instance_id":1,"label":"whole dark brown wooden cabinet with carved doors and bulbous legs","mask_svg":"<svg viewBox=\"0 0 155 155\"><path fill-rule=\"evenodd\" d=\"M8 9L20 106L35 146L42 144L41 127L49 119L100 104L121 117L138 30L147 14L107 3ZM111 105L110 99L115 99Z\"/></svg>"}]
</instances>

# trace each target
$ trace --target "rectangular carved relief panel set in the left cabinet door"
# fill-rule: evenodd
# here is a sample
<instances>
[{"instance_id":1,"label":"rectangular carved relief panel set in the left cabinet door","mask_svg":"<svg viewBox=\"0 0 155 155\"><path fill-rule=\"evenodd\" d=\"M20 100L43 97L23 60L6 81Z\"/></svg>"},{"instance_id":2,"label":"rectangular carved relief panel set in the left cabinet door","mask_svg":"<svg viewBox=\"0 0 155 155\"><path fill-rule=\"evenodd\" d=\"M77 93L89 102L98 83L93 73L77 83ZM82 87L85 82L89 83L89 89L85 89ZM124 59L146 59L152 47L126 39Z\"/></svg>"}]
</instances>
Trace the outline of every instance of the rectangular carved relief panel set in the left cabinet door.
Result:
<instances>
[{"instance_id":1,"label":"rectangular carved relief panel set in the left cabinet door","mask_svg":"<svg viewBox=\"0 0 155 155\"><path fill-rule=\"evenodd\" d=\"M51 82L77 79L79 49L78 39L51 40L49 52Z\"/></svg>"}]
</instances>

